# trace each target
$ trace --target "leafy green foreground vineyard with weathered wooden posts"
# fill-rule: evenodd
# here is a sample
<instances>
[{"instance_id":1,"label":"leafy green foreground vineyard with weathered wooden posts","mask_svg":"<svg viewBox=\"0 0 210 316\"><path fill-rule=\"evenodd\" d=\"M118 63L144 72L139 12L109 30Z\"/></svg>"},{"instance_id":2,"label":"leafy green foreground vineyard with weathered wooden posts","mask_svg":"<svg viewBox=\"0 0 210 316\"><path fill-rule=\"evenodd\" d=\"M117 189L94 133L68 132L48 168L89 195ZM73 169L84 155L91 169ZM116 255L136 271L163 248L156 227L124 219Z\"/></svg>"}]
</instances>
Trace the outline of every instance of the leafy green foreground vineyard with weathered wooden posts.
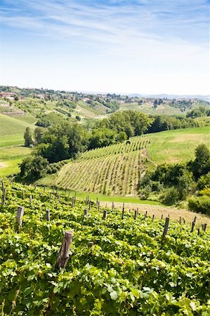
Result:
<instances>
[{"instance_id":1,"label":"leafy green foreground vineyard with weathered wooden posts","mask_svg":"<svg viewBox=\"0 0 210 316\"><path fill-rule=\"evenodd\" d=\"M196 216L3 183L0 218L2 316L210 315L210 234Z\"/></svg>"}]
</instances>

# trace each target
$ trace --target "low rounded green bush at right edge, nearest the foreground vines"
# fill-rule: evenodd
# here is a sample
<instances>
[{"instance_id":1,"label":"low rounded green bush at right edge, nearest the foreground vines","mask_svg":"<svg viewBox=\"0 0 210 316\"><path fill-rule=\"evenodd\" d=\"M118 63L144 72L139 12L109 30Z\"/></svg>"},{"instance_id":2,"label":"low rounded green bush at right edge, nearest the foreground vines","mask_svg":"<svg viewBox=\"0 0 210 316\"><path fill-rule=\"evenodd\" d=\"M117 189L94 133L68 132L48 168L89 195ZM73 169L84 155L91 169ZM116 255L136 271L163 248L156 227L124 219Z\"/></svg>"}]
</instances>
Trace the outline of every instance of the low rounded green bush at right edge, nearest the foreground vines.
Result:
<instances>
[{"instance_id":1,"label":"low rounded green bush at right edge, nearest the foreground vines","mask_svg":"<svg viewBox=\"0 0 210 316\"><path fill-rule=\"evenodd\" d=\"M191 211L210 215L210 197L192 197L188 200L188 207Z\"/></svg>"}]
</instances>

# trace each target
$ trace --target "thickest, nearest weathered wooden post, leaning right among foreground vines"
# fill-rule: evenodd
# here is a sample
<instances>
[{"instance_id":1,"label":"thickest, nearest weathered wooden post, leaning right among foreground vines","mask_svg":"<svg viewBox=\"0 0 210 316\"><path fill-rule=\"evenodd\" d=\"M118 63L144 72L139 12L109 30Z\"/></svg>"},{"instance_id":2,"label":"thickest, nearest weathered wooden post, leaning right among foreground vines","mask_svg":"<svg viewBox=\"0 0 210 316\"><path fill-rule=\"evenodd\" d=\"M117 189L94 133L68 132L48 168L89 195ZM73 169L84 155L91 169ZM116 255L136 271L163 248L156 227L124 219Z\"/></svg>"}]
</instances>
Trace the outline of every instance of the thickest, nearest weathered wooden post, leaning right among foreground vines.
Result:
<instances>
[{"instance_id":1,"label":"thickest, nearest weathered wooden post, leaning right among foreground vines","mask_svg":"<svg viewBox=\"0 0 210 316\"><path fill-rule=\"evenodd\" d=\"M72 239L73 239L73 232L70 230L66 230L63 237L63 243L60 248L57 261L55 263L56 270L58 270L59 268L65 269L67 262L70 259L70 246L72 244Z\"/></svg>"}]
</instances>

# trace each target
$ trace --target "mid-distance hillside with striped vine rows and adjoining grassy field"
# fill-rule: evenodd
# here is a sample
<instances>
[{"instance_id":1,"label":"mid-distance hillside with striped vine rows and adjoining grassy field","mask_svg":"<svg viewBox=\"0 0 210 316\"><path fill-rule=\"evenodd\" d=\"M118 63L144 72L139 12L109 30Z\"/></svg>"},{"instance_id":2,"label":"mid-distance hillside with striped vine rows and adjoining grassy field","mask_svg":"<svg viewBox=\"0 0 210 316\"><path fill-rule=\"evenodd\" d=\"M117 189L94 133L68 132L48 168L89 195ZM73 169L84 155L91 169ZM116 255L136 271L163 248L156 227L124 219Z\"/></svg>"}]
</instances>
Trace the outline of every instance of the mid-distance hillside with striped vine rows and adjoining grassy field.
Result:
<instances>
[{"instance_id":1,"label":"mid-distance hillside with striped vine rows and adjoining grassy field","mask_svg":"<svg viewBox=\"0 0 210 316\"><path fill-rule=\"evenodd\" d=\"M148 163L186 162L194 157L199 143L210 147L208 126L134 137L127 143L84 152L61 169L55 185L105 195L137 195L138 179Z\"/></svg>"}]
</instances>

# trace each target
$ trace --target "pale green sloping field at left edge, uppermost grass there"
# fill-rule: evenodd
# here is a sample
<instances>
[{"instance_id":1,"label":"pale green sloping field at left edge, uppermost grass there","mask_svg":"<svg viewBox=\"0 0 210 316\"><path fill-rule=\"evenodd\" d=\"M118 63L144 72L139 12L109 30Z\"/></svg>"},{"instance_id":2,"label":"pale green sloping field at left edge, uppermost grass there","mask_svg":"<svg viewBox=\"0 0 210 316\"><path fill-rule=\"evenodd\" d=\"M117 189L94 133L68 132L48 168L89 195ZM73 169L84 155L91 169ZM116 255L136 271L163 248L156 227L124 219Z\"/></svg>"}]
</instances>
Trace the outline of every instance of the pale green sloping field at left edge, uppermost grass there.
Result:
<instances>
[{"instance_id":1,"label":"pale green sloping field at left edge, uppermost grass there","mask_svg":"<svg viewBox=\"0 0 210 316\"><path fill-rule=\"evenodd\" d=\"M27 126L33 127L32 124L0 114L0 136L24 133Z\"/></svg>"}]
</instances>

